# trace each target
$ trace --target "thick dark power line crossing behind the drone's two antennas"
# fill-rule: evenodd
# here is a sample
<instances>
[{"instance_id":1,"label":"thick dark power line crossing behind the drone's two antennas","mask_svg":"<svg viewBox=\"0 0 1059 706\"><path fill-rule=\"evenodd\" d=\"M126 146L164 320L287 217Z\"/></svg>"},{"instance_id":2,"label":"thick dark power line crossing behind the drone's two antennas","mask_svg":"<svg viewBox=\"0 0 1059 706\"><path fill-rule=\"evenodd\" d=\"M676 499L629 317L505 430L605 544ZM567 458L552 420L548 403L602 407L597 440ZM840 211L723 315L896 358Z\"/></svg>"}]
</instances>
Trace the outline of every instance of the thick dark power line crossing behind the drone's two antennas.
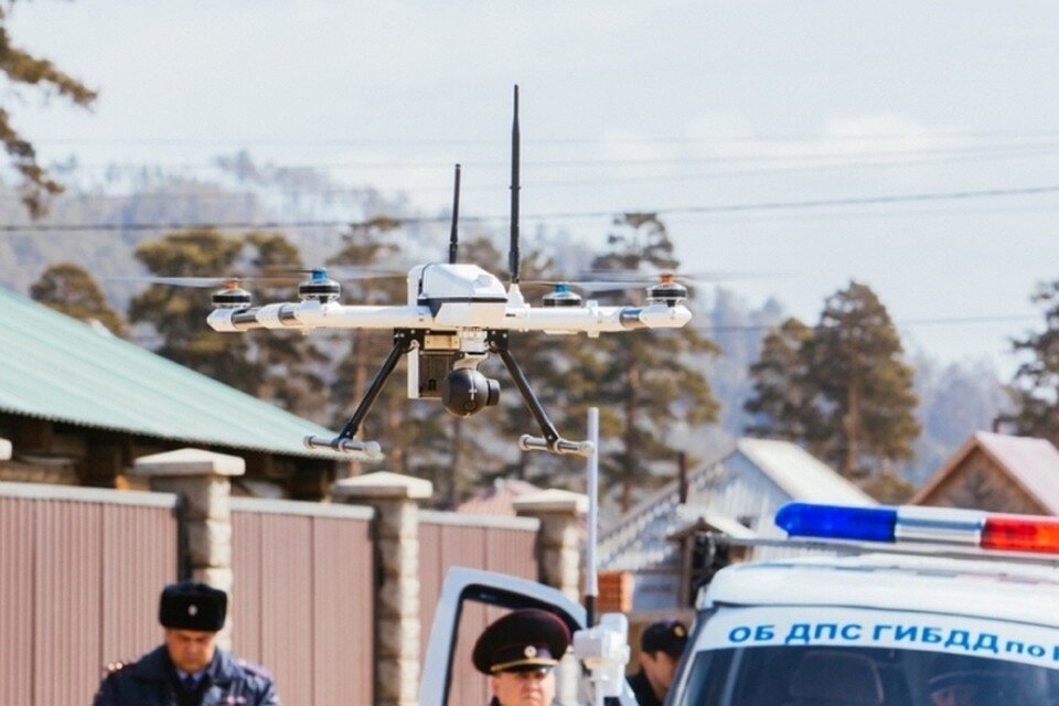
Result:
<instances>
[{"instance_id":1,"label":"thick dark power line crossing behind the drone's two antennas","mask_svg":"<svg viewBox=\"0 0 1059 706\"><path fill-rule=\"evenodd\" d=\"M613 210L613 211L585 211L585 212L559 212L546 214L525 214L528 221L561 221L576 218L602 218L613 217L627 212L648 212L657 215L682 215L682 214L713 214L713 213L740 213L753 211L783 211L783 210L803 210L803 208L823 208L834 206L853 205L887 205L894 203L910 202L932 202L932 201L956 201L971 199L996 199L1003 196L1026 196L1059 193L1059 185L1045 186L1025 186L1018 189L986 189L978 191L955 191L941 193L918 193L918 194L894 194L884 196L859 196L844 199L816 199L809 201L767 201L744 204L723 204L708 206L681 206L663 208L639 208L639 210ZM503 216L466 216L463 222L489 223L505 221ZM405 218L394 218L399 224L413 223L445 223L449 216L416 216ZM76 233L76 232L108 232L108 231L167 231L167 229L186 229L186 228L216 228L216 229L277 229L277 228L309 228L309 227L359 227L370 226L371 222L356 221L231 221L214 223L181 223L181 222L156 222L156 223L60 223L41 224L30 223L22 225L0 225L0 233Z\"/></svg>"}]
</instances>

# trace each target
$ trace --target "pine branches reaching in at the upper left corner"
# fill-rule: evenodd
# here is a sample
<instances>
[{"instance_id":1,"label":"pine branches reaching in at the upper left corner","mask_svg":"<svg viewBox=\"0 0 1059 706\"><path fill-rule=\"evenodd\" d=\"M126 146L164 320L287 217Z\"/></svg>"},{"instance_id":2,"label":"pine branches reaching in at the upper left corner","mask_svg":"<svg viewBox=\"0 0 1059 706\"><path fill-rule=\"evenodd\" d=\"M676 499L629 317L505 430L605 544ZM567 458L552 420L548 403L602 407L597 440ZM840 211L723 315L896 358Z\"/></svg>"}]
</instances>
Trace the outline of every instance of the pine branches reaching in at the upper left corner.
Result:
<instances>
[{"instance_id":1,"label":"pine branches reaching in at the upper left corner","mask_svg":"<svg viewBox=\"0 0 1059 706\"><path fill-rule=\"evenodd\" d=\"M28 85L43 93L45 97L54 94L75 105L90 106L96 99L96 92L60 71L46 58L33 56L11 43L7 12L8 10L0 8L0 72L3 72L14 87L13 96L20 98L18 87ZM4 108L0 108L0 142L8 152L11 165L22 175L19 186L22 203L34 218L43 215L49 196L61 193L63 186L38 163L36 150L14 128L11 114Z\"/></svg>"}]
</instances>

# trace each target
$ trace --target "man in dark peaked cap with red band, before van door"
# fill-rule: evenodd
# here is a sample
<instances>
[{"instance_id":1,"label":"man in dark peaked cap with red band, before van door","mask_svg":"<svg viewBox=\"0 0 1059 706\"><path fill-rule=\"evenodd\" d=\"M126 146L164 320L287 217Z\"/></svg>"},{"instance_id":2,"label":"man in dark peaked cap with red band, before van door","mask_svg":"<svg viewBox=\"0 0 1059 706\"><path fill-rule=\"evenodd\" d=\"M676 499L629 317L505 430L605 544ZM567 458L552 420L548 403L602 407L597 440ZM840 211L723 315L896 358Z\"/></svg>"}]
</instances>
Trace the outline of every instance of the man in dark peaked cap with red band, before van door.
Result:
<instances>
[{"instance_id":1,"label":"man in dark peaked cap with red band, before van door","mask_svg":"<svg viewBox=\"0 0 1059 706\"><path fill-rule=\"evenodd\" d=\"M546 610L513 610L490 624L471 654L474 668L489 675L490 706L550 704L553 668L569 645L569 628Z\"/></svg>"}]
</instances>

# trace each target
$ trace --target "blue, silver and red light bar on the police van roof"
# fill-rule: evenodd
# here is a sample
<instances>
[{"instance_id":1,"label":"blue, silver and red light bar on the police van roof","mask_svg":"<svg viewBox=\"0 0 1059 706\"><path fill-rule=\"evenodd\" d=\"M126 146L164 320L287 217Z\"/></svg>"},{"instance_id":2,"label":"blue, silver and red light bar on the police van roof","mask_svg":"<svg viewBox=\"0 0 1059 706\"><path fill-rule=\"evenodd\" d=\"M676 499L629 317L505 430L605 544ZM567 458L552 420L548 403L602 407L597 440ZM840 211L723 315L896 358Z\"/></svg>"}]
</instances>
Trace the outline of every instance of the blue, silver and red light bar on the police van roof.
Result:
<instances>
[{"instance_id":1,"label":"blue, silver and red light bar on the police van roof","mask_svg":"<svg viewBox=\"0 0 1059 706\"><path fill-rule=\"evenodd\" d=\"M1059 517L1041 515L912 505L788 503L775 513L775 524L792 537L1059 554Z\"/></svg>"}]
</instances>

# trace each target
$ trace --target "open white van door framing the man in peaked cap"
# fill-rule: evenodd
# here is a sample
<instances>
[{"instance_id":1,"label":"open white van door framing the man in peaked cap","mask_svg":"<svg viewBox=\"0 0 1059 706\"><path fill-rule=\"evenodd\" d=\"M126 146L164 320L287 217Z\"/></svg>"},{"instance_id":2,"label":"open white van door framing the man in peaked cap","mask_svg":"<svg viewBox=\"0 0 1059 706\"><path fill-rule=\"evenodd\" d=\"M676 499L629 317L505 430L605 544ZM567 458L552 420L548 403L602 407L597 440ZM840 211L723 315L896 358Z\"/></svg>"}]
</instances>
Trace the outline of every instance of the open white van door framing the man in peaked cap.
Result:
<instances>
[{"instance_id":1,"label":"open white van door framing the man in peaked cap","mask_svg":"<svg viewBox=\"0 0 1059 706\"><path fill-rule=\"evenodd\" d=\"M556 670L556 696L564 705L602 704L597 672L588 667L599 664L599 645L612 643L614 634L600 640L597 628L585 630L585 608L554 588L504 574L453 567L446 575L438 599L422 678L419 683L421 706L466 706L489 703L489 683L471 664L474 641L491 622L511 610L539 608L555 613L575 635L573 654L567 654ZM602 621L601 621L602 622ZM624 635L622 635L624 641ZM624 645L628 659L628 645ZM579 653L580 652L580 653ZM620 667L623 667L623 662ZM613 672L613 660L611 660ZM620 668L619 667L619 668ZM620 693L608 704L635 706L628 684L610 684Z\"/></svg>"}]
</instances>

